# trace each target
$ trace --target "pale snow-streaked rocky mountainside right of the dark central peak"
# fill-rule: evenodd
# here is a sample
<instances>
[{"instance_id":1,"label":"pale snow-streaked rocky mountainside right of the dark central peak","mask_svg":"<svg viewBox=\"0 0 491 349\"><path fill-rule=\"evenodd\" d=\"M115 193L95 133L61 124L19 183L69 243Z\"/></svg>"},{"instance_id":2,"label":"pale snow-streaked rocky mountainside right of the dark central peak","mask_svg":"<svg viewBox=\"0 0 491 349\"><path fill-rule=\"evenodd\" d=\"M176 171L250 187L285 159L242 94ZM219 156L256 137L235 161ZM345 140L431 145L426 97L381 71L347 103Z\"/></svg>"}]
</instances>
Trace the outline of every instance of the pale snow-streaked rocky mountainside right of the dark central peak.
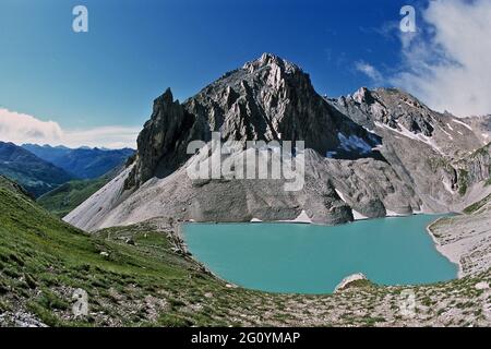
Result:
<instances>
[{"instance_id":1,"label":"pale snow-streaked rocky mountainside right of the dark central peak","mask_svg":"<svg viewBox=\"0 0 491 349\"><path fill-rule=\"evenodd\" d=\"M382 155L427 210L459 210L472 201L467 189L489 178L489 148L482 148L486 118L440 113L397 88L362 87L328 101L382 137Z\"/></svg>"}]
</instances>

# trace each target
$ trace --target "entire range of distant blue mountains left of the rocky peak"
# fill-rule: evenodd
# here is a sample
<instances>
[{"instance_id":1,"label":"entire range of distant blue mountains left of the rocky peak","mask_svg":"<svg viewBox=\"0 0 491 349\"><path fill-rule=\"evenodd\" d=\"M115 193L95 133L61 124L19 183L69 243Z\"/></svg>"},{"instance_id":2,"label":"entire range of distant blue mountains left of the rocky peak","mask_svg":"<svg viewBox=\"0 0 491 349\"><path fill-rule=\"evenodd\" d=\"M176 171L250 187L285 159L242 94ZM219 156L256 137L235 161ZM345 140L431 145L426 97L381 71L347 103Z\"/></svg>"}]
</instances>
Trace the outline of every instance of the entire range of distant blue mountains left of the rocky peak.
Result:
<instances>
[{"instance_id":1,"label":"entire range of distant blue mountains left of the rocky peak","mask_svg":"<svg viewBox=\"0 0 491 349\"><path fill-rule=\"evenodd\" d=\"M133 149L23 146L0 142L0 174L38 197L71 180L98 179L121 167Z\"/></svg>"}]
</instances>

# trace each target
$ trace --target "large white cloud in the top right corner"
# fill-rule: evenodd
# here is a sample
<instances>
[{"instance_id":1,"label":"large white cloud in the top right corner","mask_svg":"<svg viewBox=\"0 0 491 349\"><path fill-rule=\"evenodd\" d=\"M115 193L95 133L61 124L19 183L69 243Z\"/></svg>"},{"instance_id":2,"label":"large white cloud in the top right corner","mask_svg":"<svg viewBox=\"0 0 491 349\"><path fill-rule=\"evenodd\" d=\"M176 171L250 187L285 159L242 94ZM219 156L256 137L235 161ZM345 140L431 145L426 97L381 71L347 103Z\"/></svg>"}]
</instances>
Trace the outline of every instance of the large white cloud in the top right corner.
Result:
<instances>
[{"instance_id":1,"label":"large white cloud in the top right corner","mask_svg":"<svg viewBox=\"0 0 491 349\"><path fill-rule=\"evenodd\" d=\"M491 1L433 0L417 23L388 82L440 111L491 113Z\"/></svg>"}]
</instances>

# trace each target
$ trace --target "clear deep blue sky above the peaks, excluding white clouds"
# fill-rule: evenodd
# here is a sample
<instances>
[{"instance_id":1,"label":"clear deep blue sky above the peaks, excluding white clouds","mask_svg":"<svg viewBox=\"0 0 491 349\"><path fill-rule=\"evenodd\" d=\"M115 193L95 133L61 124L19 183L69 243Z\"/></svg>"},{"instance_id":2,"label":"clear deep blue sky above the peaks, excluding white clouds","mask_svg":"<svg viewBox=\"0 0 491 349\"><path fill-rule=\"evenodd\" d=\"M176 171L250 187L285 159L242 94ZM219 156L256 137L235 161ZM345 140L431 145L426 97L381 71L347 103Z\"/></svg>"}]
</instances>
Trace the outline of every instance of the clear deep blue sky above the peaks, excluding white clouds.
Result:
<instances>
[{"instance_id":1,"label":"clear deep blue sky above the peaks, excluding white clouds","mask_svg":"<svg viewBox=\"0 0 491 349\"><path fill-rule=\"evenodd\" d=\"M400 80L382 76L407 64L399 10L419 15L427 2L2 0L0 107L63 130L137 128L166 87L183 100L265 51L298 63L328 96L392 85ZM88 33L72 31L77 4Z\"/></svg>"}]
</instances>

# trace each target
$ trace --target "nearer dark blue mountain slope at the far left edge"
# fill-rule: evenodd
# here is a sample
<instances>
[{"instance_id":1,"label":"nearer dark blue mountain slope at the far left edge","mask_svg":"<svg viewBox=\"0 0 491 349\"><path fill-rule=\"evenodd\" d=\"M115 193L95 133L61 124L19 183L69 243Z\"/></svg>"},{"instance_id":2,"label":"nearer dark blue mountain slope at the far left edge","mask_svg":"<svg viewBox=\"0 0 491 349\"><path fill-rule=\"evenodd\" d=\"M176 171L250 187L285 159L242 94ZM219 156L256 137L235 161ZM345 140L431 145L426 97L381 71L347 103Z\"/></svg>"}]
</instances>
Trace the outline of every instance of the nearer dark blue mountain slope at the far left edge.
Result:
<instances>
[{"instance_id":1,"label":"nearer dark blue mountain slope at the far left edge","mask_svg":"<svg viewBox=\"0 0 491 349\"><path fill-rule=\"evenodd\" d=\"M0 174L16 181L34 196L39 196L74 178L13 143L0 142Z\"/></svg>"}]
</instances>

